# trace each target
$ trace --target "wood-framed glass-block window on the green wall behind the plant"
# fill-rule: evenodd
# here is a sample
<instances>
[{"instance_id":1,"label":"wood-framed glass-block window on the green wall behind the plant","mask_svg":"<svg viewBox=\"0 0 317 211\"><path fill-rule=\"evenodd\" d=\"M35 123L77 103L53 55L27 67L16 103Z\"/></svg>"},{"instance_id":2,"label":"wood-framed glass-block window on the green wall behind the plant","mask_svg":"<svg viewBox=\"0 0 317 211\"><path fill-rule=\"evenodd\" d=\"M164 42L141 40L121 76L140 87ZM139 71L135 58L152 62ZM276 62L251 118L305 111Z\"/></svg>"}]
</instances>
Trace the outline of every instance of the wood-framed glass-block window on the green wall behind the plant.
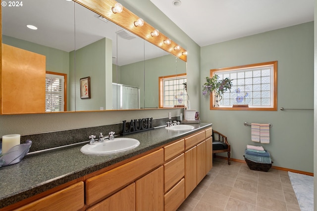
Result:
<instances>
[{"instance_id":1,"label":"wood-framed glass-block window on the green wall behind the plant","mask_svg":"<svg viewBox=\"0 0 317 211\"><path fill-rule=\"evenodd\" d=\"M214 69L210 75L233 80L220 107L212 106L211 96L211 110L277 110L277 61Z\"/></svg>"}]
</instances>

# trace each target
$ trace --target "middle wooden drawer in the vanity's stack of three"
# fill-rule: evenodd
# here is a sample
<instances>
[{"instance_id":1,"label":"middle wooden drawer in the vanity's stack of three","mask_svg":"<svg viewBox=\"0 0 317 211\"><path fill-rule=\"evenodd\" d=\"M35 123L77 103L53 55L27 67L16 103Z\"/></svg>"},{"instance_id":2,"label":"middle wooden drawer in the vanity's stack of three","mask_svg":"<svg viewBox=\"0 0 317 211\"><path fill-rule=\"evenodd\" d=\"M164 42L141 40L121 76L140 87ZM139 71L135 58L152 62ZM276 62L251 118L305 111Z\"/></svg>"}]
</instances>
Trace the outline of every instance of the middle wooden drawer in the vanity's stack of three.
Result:
<instances>
[{"instance_id":1,"label":"middle wooden drawer in the vanity's stack of three","mask_svg":"<svg viewBox=\"0 0 317 211\"><path fill-rule=\"evenodd\" d=\"M164 193L185 175L184 153L164 164Z\"/></svg>"}]
</instances>

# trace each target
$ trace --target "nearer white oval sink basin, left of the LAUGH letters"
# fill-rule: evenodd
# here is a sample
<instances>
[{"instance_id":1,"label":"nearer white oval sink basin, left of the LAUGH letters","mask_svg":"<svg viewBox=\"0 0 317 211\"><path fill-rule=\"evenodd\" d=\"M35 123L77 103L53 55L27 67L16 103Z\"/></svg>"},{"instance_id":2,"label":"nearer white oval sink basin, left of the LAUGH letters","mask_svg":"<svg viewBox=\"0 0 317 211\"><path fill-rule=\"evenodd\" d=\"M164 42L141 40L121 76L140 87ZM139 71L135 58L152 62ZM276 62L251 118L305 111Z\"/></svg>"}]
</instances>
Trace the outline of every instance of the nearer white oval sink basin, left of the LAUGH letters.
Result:
<instances>
[{"instance_id":1,"label":"nearer white oval sink basin, left of the LAUGH letters","mask_svg":"<svg viewBox=\"0 0 317 211\"><path fill-rule=\"evenodd\" d=\"M134 138L114 138L95 144L86 144L80 151L88 155L108 155L117 152L124 152L139 146L140 142Z\"/></svg>"}]
</instances>

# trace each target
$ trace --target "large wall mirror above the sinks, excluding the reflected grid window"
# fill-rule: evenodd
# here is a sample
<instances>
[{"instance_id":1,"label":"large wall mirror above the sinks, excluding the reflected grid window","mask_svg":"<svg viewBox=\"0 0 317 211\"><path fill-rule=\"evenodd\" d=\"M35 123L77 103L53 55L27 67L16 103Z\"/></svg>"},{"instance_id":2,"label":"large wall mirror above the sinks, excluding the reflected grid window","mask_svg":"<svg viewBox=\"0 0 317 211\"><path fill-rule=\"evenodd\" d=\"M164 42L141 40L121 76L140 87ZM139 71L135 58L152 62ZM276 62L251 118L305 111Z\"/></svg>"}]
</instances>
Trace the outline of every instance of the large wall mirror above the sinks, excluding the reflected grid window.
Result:
<instances>
[{"instance_id":1,"label":"large wall mirror above the sinks, excluding the reflected grid window","mask_svg":"<svg viewBox=\"0 0 317 211\"><path fill-rule=\"evenodd\" d=\"M23 1L20 7L2 6L1 13L2 103L10 105L3 114L158 108L159 77L186 73L185 61L75 1ZM11 69L4 70L8 63ZM34 63L45 79L43 71L31 73L38 69ZM38 85L46 92L38 106L43 109L32 110L23 102L38 100L28 95L42 90ZM16 99L6 102L16 90ZM65 104L56 103L60 98ZM17 100L19 108L12 108Z\"/></svg>"}]
</instances>

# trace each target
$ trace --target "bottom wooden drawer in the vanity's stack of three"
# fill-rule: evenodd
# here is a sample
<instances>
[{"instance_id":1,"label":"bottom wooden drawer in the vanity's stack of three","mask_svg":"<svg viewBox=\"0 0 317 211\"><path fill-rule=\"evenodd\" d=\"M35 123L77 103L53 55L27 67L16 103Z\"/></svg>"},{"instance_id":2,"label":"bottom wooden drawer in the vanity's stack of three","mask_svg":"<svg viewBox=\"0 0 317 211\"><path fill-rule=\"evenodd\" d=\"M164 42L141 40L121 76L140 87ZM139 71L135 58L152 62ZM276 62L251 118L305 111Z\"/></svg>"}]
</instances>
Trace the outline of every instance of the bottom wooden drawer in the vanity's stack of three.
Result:
<instances>
[{"instance_id":1,"label":"bottom wooden drawer in the vanity's stack of three","mask_svg":"<svg viewBox=\"0 0 317 211\"><path fill-rule=\"evenodd\" d=\"M164 195L164 211L176 211L185 200L185 179L180 180Z\"/></svg>"}]
</instances>

